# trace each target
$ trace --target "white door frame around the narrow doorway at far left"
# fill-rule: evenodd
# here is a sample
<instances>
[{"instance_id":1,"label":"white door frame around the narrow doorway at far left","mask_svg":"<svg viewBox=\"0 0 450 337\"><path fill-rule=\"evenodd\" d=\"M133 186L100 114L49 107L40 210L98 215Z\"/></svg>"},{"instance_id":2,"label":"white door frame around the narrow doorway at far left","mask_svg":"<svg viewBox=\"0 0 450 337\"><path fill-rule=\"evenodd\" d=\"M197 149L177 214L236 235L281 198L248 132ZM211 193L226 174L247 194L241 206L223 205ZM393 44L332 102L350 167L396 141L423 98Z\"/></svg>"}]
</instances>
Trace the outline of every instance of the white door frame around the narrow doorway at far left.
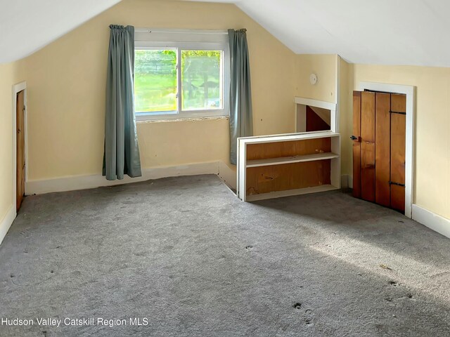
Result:
<instances>
[{"instance_id":1,"label":"white door frame around the narrow doorway at far left","mask_svg":"<svg viewBox=\"0 0 450 337\"><path fill-rule=\"evenodd\" d=\"M16 207L17 199L17 94L24 91L23 103L25 111L23 112L23 125L25 127L25 182L28 180L28 130L27 130L27 82L20 82L13 86L13 206ZM26 184L25 184L26 186ZM26 192L25 192L26 194Z\"/></svg>"}]
</instances>

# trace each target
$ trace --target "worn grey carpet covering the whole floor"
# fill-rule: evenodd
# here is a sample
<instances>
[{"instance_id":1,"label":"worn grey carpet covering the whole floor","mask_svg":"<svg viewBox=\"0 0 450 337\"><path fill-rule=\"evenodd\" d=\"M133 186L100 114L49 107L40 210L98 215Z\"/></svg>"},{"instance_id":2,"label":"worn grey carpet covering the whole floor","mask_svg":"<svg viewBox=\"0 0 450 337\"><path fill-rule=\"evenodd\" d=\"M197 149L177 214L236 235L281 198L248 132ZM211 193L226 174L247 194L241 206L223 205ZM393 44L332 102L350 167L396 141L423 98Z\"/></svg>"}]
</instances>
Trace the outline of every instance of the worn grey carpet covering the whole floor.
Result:
<instances>
[{"instance_id":1,"label":"worn grey carpet covering the whole floor","mask_svg":"<svg viewBox=\"0 0 450 337\"><path fill-rule=\"evenodd\" d=\"M449 264L450 239L339 191L244 203L191 176L31 196L0 246L0 317L34 324L0 336L450 336Z\"/></svg>"}]
</instances>

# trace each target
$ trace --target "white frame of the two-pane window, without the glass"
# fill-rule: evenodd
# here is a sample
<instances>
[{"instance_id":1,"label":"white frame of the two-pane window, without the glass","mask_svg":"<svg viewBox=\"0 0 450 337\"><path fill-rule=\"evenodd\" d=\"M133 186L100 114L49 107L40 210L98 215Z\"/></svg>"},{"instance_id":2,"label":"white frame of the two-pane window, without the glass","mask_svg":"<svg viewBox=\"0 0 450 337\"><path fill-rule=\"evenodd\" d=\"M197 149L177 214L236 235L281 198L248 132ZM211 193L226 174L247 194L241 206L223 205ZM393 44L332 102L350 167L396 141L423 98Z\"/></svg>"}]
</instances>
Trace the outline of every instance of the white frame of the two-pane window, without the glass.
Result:
<instances>
[{"instance_id":1,"label":"white frame of the two-pane window, without the glass","mask_svg":"<svg viewBox=\"0 0 450 337\"><path fill-rule=\"evenodd\" d=\"M177 112L135 112L136 121L158 121L167 119L195 119L203 117L229 116L230 52L226 31L181 30L181 29L136 29L135 50L176 49L176 107ZM182 50L223 51L221 58L222 109L183 110L181 105L181 60Z\"/></svg>"}]
</instances>

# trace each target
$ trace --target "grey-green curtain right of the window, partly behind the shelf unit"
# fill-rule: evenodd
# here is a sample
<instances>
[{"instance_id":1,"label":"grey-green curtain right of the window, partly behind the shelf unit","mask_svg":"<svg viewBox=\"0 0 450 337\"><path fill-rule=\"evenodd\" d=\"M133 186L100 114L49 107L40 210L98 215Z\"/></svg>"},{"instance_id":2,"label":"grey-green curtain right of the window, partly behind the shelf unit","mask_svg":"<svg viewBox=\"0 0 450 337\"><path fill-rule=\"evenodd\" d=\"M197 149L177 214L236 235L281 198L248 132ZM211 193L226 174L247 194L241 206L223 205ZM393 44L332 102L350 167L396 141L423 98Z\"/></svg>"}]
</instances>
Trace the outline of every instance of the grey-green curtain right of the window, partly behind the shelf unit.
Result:
<instances>
[{"instance_id":1,"label":"grey-green curtain right of the window, partly behind the shelf unit","mask_svg":"<svg viewBox=\"0 0 450 337\"><path fill-rule=\"evenodd\" d=\"M253 136L252 88L246 29L228 30L230 81L230 162L236 165L237 138Z\"/></svg>"}]
</instances>

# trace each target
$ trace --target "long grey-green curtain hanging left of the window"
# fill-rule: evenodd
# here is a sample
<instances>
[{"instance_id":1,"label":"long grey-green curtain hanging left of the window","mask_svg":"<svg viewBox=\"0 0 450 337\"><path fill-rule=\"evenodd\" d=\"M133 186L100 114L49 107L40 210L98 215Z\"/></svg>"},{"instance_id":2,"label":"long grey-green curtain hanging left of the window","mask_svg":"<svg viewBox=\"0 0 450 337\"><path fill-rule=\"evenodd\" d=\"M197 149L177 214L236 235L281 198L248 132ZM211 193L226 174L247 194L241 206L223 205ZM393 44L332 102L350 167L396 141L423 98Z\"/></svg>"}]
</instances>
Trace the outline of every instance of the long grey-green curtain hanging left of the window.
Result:
<instances>
[{"instance_id":1,"label":"long grey-green curtain hanging left of the window","mask_svg":"<svg viewBox=\"0 0 450 337\"><path fill-rule=\"evenodd\" d=\"M141 176L134 117L134 27L110 25L103 176Z\"/></svg>"}]
</instances>

